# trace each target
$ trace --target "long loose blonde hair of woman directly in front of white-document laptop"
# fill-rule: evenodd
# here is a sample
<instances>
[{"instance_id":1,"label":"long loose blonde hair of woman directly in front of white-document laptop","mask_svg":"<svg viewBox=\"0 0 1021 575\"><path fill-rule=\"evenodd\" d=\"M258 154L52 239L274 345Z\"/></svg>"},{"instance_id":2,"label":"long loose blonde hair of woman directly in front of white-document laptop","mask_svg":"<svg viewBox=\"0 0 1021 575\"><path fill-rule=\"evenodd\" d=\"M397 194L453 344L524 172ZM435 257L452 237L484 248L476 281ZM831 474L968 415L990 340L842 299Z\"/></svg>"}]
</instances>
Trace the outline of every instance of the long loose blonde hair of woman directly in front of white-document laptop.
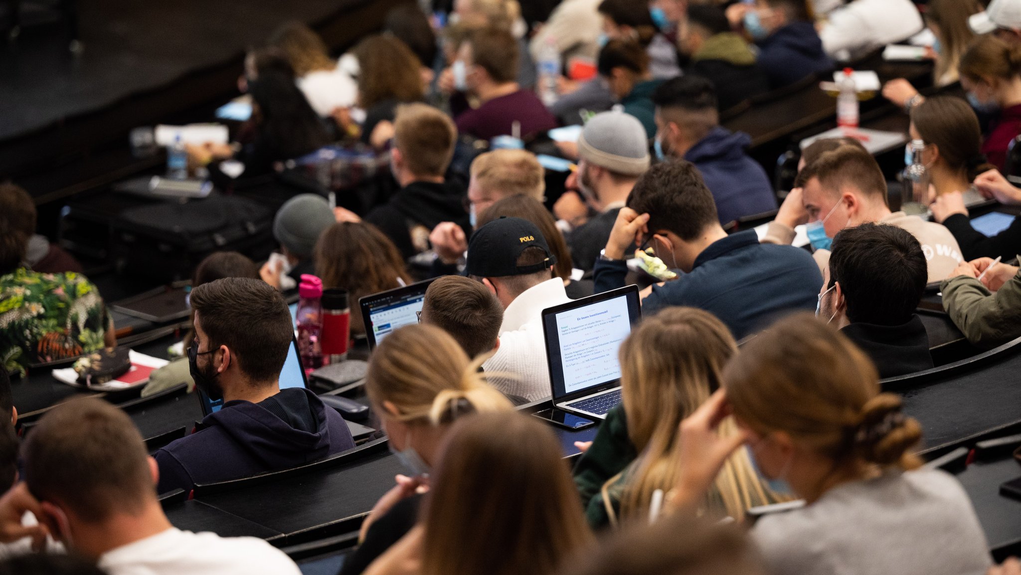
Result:
<instances>
[{"instance_id":1,"label":"long loose blonde hair of woman directly in front of white-document laptop","mask_svg":"<svg viewBox=\"0 0 1021 575\"><path fill-rule=\"evenodd\" d=\"M693 307L646 318L621 345L621 395L628 435L639 451L621 498L622 516L643 514L652 492L673 484L677 428L719 389L736 351L727 327ZM725 511L738 519L748 507L766 502L743 451L727 462L716 488Z\"/></svg>"}]
</instances>

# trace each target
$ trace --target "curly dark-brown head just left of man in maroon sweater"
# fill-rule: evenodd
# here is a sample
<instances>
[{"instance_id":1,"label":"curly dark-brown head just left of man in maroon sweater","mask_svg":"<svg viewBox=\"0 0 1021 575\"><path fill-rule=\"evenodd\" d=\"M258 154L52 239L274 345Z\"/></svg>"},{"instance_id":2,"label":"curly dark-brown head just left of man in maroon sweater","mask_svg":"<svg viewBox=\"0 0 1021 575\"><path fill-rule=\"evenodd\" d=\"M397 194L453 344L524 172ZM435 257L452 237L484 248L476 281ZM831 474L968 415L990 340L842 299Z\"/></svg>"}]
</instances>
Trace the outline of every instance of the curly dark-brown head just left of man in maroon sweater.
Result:
<instances>
[{"instance_id":1,"label":"curly dark-brown head just left of man in maroon sweater","mask_svg":"<svg viewBox=\"0 0 1021 575\"><path fill-rule=\"evenodd\" d=\"M389 34L370 36L354 47L353 53L360 70L360 107L369 109L389 99L417 102L423 98L422 64L397 37Z\"/></svg>"}]
</instances>

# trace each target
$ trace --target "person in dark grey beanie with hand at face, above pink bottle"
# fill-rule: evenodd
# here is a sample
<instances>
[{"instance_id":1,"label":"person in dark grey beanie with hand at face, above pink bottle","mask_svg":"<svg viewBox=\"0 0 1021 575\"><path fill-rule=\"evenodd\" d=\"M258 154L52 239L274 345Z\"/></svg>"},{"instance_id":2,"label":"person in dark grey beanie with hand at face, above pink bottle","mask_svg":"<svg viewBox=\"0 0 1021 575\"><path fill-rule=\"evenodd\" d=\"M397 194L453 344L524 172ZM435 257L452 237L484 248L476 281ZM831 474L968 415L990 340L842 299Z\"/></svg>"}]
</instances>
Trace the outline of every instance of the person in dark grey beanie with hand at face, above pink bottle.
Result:
<instances>
[{"instance_id":1,"label":"person in dark grey beanie with hand at face, above pink bottle","mask_svg":"<svg viewBox=\"0 0 1021 575\"><path fill-rule=\"evenodd\" d=\"M287 200L273 219L273 236L286 261L268 260L259 277L277 289L294 289L302 274L314 273L315 242L335 222L330 204L319 194L298 194Z\"/></svg>"}]
</instances>

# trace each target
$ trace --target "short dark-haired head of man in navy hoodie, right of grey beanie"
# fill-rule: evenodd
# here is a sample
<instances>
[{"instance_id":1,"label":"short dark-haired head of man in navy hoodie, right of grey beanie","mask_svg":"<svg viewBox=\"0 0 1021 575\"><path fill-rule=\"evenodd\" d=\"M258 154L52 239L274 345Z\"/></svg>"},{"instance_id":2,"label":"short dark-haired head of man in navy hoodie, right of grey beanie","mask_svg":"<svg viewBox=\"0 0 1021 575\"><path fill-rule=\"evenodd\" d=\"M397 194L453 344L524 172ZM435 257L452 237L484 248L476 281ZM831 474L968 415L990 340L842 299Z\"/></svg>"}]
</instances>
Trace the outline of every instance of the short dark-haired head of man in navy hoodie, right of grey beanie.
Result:
<instances>
[{"instance_id":1,"label":"short dark-haired head of man in navy hoodie, right of grey beanie","mask_svg":"<svg viewBox=\"0 0 1021 575\"><path fill-rule=\"evenodd\" d=\"M716 88L709 80L684 75L668 80L652 93L655 139L663 153L683 157L720 125Z\"/></svg>"}]
</instances>

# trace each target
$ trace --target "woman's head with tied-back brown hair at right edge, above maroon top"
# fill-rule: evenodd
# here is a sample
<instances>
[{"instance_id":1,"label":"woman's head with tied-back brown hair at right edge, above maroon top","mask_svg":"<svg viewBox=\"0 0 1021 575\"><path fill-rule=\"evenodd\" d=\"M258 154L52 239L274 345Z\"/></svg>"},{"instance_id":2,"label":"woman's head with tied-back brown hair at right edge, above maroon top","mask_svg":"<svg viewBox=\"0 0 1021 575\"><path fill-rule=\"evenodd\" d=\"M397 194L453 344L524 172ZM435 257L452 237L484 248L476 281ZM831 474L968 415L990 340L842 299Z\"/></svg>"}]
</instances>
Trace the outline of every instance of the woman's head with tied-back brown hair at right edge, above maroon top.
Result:
<instances>
[{"instance_id":1,"label":"woman's head with tied-back brown hair at right edge, above maroon top","mask_svg":"<svg viewBox=\"0 0 1021 575\"><path fill-rule=\"evenodd\" d=\"M1021 77L1021 46L993 35L978 36L961 55L958 70L973 106L1003 107L1016 97L1013 88Z\"/></svg>"}]
</instances>

